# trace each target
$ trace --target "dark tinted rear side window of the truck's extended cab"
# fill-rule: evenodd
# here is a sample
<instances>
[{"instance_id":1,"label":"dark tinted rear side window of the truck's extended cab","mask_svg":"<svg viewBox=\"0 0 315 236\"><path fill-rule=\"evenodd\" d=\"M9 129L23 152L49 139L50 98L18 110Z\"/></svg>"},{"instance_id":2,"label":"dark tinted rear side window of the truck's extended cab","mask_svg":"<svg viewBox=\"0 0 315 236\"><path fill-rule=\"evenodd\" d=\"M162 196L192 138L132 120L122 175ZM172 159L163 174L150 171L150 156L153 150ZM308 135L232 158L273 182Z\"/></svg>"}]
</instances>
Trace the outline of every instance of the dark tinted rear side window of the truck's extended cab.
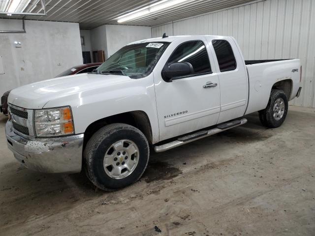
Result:
<instances>
[{"instance_id":1,"label":"dark tinted rear side window of the truck's extended cab","mask_svg":"<svg viewBox=\"0 0 315 236\"><path fill-rule=\"evenodd\" d=\"M212 40L212 45L215 50L220 71L231 71L236 69L236 59L231 45L226 40Z\"/></svg>"}]
</instances>

